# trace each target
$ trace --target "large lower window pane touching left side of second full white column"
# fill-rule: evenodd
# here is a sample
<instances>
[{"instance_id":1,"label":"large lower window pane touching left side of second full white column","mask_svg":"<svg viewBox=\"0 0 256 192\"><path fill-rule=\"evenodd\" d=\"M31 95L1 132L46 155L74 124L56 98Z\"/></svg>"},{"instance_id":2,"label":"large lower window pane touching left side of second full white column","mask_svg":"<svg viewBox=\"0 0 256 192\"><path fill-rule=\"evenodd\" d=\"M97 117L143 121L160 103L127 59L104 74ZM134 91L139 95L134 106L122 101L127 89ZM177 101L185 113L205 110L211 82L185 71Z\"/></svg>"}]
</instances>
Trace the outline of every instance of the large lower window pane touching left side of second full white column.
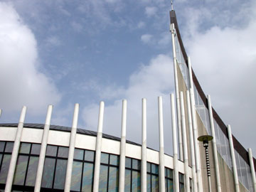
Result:
<instances>
[{"instance_id":1,"label":"large lower window pane touching left side of second full white column","mask_svg":"<svg viewBox=\"0 0 256 192\"><path fill-rule=\"evenodd\" d=\"M28 174L26 176L26 186L35 186L38 159L38 156L31 156L29 159Z\"/></svg>"}]
</instances>

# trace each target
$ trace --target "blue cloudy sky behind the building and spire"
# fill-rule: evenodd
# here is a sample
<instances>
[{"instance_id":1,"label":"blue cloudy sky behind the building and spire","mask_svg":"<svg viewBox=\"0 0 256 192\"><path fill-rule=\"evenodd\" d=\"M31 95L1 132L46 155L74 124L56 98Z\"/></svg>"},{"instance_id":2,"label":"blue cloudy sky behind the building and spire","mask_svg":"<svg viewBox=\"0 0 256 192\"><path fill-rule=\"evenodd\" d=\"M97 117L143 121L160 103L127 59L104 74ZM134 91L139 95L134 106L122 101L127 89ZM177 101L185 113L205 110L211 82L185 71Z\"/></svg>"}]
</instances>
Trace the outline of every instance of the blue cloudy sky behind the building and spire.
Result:
<instances>
[{"instance_id":1,"label":"blue cloudy sky behind the building and spire","mask_svg":"<svg viewBox=\"0 0 256 192\"><path fill-rule=\"evenodd\" d=\"M157 97L164 102L165 152L171 149L174 92L169 10L165 0L0 1L0 122L78 127L120 136L127 100L127 139L141 143L142 98L147 144L159 149ZM204 92L245 149L256 154L256 1L174 0L186 52Z\"/></svg>"}]
</instances>

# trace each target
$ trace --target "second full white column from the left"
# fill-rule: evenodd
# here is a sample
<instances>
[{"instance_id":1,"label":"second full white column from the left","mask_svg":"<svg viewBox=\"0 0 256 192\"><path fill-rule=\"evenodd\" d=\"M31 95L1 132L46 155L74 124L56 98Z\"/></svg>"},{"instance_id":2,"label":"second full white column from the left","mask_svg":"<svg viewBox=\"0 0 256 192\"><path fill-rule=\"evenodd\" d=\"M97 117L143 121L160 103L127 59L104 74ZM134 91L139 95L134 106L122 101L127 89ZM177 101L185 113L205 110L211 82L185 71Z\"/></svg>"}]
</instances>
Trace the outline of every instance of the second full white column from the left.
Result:
<instances>
[{"instance_id":1,"label":"second full white column from the left","mask_svg":"<svg viewBox=\"0 0 256 192\"><path fill-rule=\"evenodd\" d=\"M41 190L41 181L43 176L43 165L46 158L46 147L48 142L48 134L50 129L50 118L53 112L53 105L48 105L48 110L46 114L46 124L43 129L43 138L41 141L41 149L40 149L40 156L38 161L38 169L36 172L36 183L35 183L35 192L40 192Z\"/></svg>"}]
</instances>

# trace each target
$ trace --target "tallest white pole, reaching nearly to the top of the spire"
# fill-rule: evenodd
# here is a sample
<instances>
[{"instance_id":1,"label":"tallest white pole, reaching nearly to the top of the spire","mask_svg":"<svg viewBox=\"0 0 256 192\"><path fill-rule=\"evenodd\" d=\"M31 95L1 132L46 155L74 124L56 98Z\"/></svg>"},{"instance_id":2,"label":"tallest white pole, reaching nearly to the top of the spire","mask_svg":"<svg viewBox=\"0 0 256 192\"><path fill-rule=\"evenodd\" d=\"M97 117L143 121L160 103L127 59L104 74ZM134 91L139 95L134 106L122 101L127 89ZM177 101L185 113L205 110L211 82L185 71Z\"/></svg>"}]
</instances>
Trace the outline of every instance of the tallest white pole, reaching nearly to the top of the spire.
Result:
<instances>
[{"instance_id":1,"label":"tallest white pole, reaching nearly to the top of the spire","mask_svg":"<svg viewBox=\"0 0 256 192\"><path fill-rule=\"evenodd\" d=\"M180 160L183 161L183 146L182 146L182 137L181 137L181 105L180 97L178 92L178 72L177 72L177 60L176 60L176 48L175 48L175 38L174 38L174 23L171 24L171 40L173 47L174 55L174 82L175 82L175 93L176 93L176 111L177 111L177 121L178 121L178 149Z\"/></svg>"}]
</instances>

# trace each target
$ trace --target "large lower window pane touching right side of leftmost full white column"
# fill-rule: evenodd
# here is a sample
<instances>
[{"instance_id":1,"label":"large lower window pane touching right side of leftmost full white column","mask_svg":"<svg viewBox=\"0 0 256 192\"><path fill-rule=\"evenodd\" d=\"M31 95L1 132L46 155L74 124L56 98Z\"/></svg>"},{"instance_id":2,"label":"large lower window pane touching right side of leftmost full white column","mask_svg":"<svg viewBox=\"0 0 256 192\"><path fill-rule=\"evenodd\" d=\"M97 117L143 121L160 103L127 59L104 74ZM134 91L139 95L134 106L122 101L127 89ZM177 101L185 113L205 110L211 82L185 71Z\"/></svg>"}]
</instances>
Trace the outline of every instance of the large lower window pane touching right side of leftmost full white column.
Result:
<instances>
[{"instance_id":1,"label":"large lower window pane touching right side of leftmost full white column","mask_svg":"<svg viewBox=\"0 0 256 192\"><path fill-rule=\"evenodd\" d=\"M19 155L17 159L15 174L14 174L14 184L24 185L26 168L28 166L28 156Z\"/></svg>"}]
</instances>

